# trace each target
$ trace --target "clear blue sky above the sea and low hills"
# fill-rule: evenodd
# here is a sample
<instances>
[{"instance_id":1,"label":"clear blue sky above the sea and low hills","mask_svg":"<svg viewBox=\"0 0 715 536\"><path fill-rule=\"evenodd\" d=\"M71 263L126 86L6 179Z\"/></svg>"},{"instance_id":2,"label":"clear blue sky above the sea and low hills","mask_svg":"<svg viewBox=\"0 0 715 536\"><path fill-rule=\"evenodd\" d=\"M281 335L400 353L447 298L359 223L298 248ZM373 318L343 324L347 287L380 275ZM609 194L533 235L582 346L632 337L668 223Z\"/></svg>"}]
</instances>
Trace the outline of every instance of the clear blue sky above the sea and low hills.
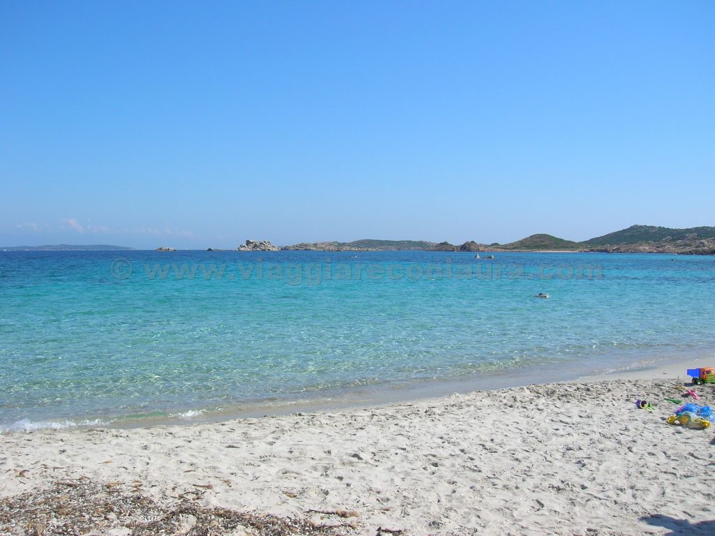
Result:
<instances>
[{"instance_id":1,"label":"clear blue sky above the sea and low hills","mask_svg":"<svg viewBox=\"0 0 715 536\"><path fill-rule=\"evenodd\" d=\"M715 225L713 1L0 0L0 245Z\"/></svg>"}]
</instances>

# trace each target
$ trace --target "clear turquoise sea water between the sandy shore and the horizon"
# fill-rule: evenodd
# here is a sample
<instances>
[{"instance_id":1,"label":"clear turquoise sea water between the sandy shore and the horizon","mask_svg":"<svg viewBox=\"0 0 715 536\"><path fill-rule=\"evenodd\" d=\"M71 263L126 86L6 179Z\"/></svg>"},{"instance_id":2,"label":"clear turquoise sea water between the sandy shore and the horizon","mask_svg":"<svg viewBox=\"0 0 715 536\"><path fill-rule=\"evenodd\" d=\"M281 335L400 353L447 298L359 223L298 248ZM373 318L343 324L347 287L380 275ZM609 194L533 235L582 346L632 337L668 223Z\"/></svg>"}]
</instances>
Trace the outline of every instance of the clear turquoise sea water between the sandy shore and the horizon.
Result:
<instances>
[{"instance_id":1,"label":"clear turquoise sea water between the sandy shore and the horizon","mask_svg":"<svg viewBox=\"0 0 715 536\"><path fill-rule=\"evenodd\" d=\"M715 347L712 257L0 252L0 298L5 428L556 379Z\"/></svg>"}]
</instances>

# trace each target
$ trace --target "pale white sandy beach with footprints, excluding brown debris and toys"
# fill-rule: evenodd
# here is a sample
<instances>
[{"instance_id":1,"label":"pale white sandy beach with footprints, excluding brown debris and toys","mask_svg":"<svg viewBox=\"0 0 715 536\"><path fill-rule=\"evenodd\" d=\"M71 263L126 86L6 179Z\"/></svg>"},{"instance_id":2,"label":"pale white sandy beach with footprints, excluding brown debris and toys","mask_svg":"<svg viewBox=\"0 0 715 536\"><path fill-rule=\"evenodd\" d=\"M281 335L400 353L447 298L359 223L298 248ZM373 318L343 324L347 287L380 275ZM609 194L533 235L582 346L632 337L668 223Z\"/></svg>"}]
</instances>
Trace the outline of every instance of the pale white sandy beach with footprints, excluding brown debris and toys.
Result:
<instances>
[{"instance_id":1,"label":"pale white sandy beach with footprints, excluding brown debris and toys","mask_svg":"<svg viewBox=\"0 0 715 536\"><path fill-rule=\"evenodd\" d=\"M676 406L664 397L681 398L684 372L212 424L8 433L0 494L84 479L167 505L349 521L347 532L373 536L713 535L713 429L665 422ZM714 384L696 390L715 405ZM655 411L637 410L637 398ZM132 532L117 523L94 533Z\"/></svg>"}]
</instances>

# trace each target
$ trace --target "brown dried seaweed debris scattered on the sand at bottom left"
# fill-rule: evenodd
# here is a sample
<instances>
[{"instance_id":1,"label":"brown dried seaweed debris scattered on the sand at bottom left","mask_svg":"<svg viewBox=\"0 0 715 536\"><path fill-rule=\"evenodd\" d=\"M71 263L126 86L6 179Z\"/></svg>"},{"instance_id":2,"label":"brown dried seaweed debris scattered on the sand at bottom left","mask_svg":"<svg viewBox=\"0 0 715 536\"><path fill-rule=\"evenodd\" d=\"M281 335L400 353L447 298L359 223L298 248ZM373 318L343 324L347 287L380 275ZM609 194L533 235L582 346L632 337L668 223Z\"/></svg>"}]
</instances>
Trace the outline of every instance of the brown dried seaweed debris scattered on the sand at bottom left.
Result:
<instances>
[{"instance_id":1,"label":"brown dried seaweed debris scattered on the sand at bottom left","mask_svg":"<svg viewBox=\"0 0 715 536\"><path fill-rule=\"evenodd\" d=\"M0 534L9 535L96 535L114 529L115 534L132 536L347 536L357 527L355 522L319 524L200 507L185 499L167 507L136 489L89 479L54 482L46 489L0 500Z\"/></svg>"}]
</instances>

